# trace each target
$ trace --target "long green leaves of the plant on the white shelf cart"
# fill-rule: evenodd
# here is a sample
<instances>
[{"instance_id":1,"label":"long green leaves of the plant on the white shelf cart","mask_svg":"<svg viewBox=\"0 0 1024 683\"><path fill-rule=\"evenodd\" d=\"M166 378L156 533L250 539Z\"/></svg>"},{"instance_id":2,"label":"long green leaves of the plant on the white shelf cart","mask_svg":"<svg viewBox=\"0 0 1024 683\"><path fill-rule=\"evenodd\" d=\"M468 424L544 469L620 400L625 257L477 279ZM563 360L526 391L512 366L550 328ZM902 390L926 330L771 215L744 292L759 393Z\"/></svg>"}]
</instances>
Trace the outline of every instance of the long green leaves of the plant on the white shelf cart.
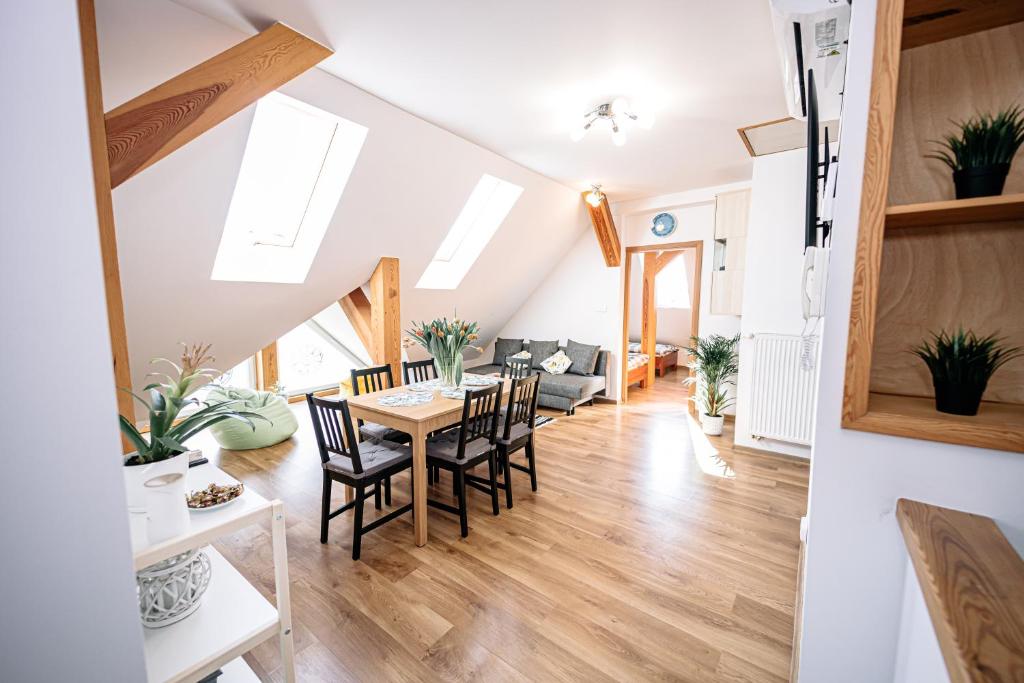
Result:
<instances>
[{"instance_id":1,"label":"long green leaves of the plant on the white shelf cart","mask_svg":"<svg viewBox=\"0 0 1024 683\"><path fill-rule=\"evenodd\" d=\"M145 405L150 414L148 439L139 432L132 421L123 415L119 416L121 431L136 450L136 453L130 454L125 460L126 465L156 463L184 453L188 450L185 441L204 429L224 420L240 420L248 424L254 431L256 425L253 424L253 419L269 422L262 415L236 410L241 402L238 400L201 401L198 398L188 397L221 374L219 370L204 367L214 360L209 351L209 344L205 346L203 344L186 345L181 354L180 366L167 358L151 360L153 364L171 366L177 373L177 377L172 377L167 373L151 373L150 377L163 381L154 382L142 389L148 393L148 400L129 389L124 389ZM187 405L201 408L179 421L178 416L182 409Z\"/></svg>"}]
</instances>

